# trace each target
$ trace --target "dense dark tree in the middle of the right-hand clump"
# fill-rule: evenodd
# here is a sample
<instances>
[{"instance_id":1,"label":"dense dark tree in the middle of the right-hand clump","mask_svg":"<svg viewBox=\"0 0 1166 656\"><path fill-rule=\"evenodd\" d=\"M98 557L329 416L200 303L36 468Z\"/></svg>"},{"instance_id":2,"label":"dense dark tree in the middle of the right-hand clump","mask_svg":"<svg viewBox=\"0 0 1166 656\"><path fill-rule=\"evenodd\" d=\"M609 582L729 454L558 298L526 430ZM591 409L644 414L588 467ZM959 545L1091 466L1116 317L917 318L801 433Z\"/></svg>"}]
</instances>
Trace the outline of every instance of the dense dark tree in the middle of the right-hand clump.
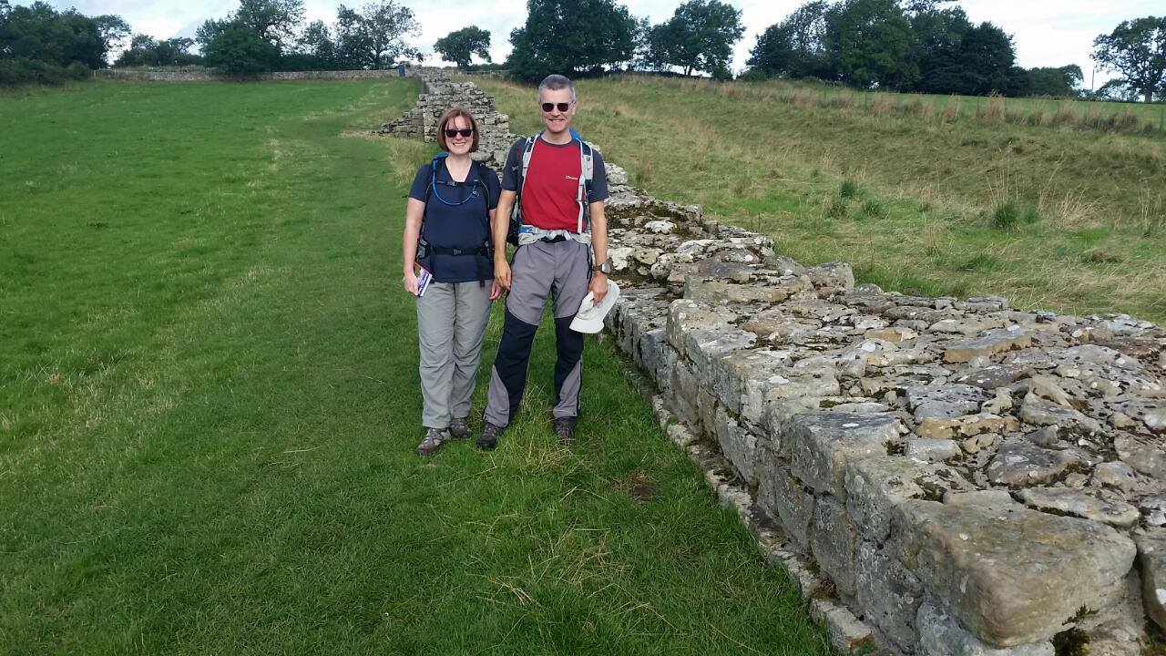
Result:
<instances>
[{"instance_id":1,"label":"dense dark tree in the middle of the right-hand clump","mask_svg":"<svg viewBox=\"0 0 1166 656\"><path fill-rule=\"evenodd\" d=\"M914 34L895 0L844 0L826 13L826 42L843 82L909 89L919 67L908 56Z\"/></svg>"}]
</instances>

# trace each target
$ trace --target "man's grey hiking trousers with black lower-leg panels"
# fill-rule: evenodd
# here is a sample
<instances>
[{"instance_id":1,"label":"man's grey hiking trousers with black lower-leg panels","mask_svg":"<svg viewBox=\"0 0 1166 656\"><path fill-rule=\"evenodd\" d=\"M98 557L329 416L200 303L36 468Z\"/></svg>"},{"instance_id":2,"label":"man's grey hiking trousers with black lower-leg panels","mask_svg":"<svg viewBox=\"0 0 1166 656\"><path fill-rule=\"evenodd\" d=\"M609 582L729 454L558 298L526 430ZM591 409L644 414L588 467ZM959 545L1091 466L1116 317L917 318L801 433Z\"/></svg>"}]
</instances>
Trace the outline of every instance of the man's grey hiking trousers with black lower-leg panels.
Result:
<instances>
[{"instance_id":1,"label":"man's grey hiking trousers with black lower-leg panels","mask_svg":"<svg viewBox=\"0 0 1166 656\"><path fill-rule=\"evenodd\" d=\"M534 333L547 298L555 315L555 418L578 417L583 385L583 335L571 320L586 295L591 249L573 240L535 242L519 246L511 264L511 291L498 355L490 374L485 420L506 426L518 412L526 389Z\"/></svg>"}]
</instances>

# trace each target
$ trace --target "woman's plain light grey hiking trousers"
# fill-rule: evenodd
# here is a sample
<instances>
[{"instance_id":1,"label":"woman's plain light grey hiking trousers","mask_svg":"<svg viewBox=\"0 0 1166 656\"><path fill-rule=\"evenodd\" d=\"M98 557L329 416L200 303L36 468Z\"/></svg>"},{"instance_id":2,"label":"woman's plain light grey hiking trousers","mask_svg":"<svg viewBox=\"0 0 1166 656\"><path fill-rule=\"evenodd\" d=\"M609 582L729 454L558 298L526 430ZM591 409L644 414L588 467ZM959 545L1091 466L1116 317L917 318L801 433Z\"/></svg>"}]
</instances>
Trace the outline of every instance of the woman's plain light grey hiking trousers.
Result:
<instances>
[{"instance_id":1,"label":"woman's plain light grey hiking trousers","mask_svg":"<svg viewBox=\"0 0 1166 656\"><path fill-rule=\"evenodd\" d=\"M430 282L417 299L421 344L421 424L448 428L470 414L482 342L490 321L490 287L472 282Z\"/></svg>"}]
</instances>

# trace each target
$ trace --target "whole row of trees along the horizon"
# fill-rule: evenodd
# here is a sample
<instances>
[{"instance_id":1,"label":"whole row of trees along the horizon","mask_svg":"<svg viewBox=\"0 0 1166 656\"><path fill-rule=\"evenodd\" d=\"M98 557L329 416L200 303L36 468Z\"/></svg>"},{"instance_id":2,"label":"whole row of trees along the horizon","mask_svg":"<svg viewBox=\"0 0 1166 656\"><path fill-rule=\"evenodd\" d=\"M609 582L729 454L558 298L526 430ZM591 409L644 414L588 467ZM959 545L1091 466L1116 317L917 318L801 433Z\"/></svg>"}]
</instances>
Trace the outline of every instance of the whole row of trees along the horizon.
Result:
<instances>
[{"instance_id":1,"label":"whole row of trees along the horizon","mask_svg":"<svg viewBox=\"0 0 1166 656\"><path fill-rule=\"evenodd\" d=\"M859 89L926 93L1082 96L1079 65L1025 69L1012 36L974 23L955 0L810 0L758 35L750 79L820 79ZM510 34L504 68L522 81L550 72L611 71L733 77L732 48L742 12L721 0L688 0L651 25L616 0L527 0L526 22ZM420 34L413 11L396 0L340 5L336 20L304 22L303 0L240 0L195 39L131 34L119 16L58 12L45 2L0 0L0 83L52 82L117 67L203 64L226 72L381 69L423 61L408 42ZM487 30L466 26L434 43L461 68L490 62ZM126 41L128 40L128 44ZM198 46L199 54L192 50ZM122 49L122 46L126 46ZM1166 95L1166 16L1122 22L1094 42L1094 60L1118 78L1100 97Z\"/></svg>"}]
</instances>

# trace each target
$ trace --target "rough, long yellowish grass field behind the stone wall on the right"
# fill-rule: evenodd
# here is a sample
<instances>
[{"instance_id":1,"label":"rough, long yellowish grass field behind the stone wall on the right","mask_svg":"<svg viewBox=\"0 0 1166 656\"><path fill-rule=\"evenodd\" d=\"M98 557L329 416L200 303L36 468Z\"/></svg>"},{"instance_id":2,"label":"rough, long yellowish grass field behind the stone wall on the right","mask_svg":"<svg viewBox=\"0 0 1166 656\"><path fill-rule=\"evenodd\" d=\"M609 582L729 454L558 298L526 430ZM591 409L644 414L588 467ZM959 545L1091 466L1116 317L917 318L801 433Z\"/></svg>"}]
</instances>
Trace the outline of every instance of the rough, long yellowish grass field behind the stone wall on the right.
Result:
<instances>
[{"instance_id":1,"label":"rough, long yellowish grass field behind the stone wall on the right","mask_svg":"<svg viewBox=\"0 0 1166 656\"><path fill-rule=\"evenodd\" d=\"M534 89L476 79L512 130L540 127ZM634 184L772 235L807 264L844 259L861 280L902 292L1166 320L1160 133L1011 123L982 111L985 99L815 88L806 93L851 100L800 102L802 88L780 83L637 76L578 90L576 125ZM894 110L915 102L935 111ZM1115 111L1097 105L1066 111ZM1158 110L1130 111L1154 120Z\"/></svg>"}]
</instances>

